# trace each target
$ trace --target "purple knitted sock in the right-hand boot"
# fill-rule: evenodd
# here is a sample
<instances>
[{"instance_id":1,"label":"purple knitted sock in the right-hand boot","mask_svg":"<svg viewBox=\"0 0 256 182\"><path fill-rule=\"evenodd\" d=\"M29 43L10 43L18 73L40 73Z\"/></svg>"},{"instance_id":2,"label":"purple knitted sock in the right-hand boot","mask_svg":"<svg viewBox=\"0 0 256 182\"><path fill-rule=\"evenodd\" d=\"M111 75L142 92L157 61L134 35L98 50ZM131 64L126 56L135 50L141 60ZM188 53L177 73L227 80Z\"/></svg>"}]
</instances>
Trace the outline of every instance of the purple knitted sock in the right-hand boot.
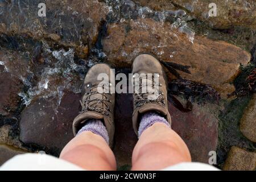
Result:
<instances>
[{"instance_id":1,"label":"purple knitted sock in the right-hand boot","mask_svg":"<svg viewBox=\"0 0 256 182\"><path fill-rule=\"evenodd\" d=\"M170 123L168 123L166 118L160 116L154 111L150 111L142 115L141 123L139 123L139 137L141 137L143 131L145 131L148 127L154 125L155 123L164 123L171 128L171 125Z\"/></svg>"}]
</instances>

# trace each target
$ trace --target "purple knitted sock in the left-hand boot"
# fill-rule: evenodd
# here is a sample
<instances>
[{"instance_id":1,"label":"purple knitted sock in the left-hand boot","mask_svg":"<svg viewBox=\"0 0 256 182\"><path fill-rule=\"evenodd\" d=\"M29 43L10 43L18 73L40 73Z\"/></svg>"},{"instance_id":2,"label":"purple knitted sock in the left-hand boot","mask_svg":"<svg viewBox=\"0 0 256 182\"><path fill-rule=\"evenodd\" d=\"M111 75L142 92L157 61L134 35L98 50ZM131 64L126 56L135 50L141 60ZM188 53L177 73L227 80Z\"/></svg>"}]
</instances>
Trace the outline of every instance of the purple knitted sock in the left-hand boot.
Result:
<instances>
[{"instance_id":1,"label":"purple knitted sock in the left-hand boot","mask_svg":"<svg viewBox=\"0 0 256 182\"><path fill-rule=\"evenodd\" d=\"M84 131L91 131L96 135L100 135L109 144L109 134L106 127L99 119L90 119L86 122L85 126L82 127L76 135L81 134Z\"/></svg>"}]
</instances>

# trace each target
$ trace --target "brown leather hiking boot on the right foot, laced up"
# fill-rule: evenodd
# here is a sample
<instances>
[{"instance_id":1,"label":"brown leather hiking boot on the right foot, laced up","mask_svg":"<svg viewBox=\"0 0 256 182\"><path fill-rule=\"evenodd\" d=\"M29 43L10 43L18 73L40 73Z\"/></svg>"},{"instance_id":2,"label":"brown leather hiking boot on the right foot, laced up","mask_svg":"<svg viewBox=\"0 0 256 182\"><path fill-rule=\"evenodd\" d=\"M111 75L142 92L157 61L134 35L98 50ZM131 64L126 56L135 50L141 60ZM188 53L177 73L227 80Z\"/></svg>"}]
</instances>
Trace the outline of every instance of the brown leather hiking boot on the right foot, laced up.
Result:
<instances>
[{"instance_id":1,"label":"brown leather hiking boot on the right foot, laced up","mask_svg":"<svg viewBox=\"0 0 256 182\"><path fill-rule=\"evenodd\" d=\"M134 98L133 129L135 133L138 135L139 119L141 118L141 115L143 113L146 113L147 111L156 111L157 113L165 117L171 125L171 116L168 112L168 102L167 102L166 73L164 72L160 62L151 55L143 54L136 57L136 59L133 62L132 69L133 69L133 74L138 73L139 75L141 75L142 73L144 74L152 73L152 75L155 76L155 73L157 73L156 76L159 77L159 88L157 93L158 97L156 97L155 99L148 98L148 95L150 93L135 92L133 94L133 98ZM142 84L143 79L146 79L146 81L150 80L149 82L150 83L152 82L152 85L154 85L154 81L153 81L154 76L151 76L151 78L148 76L141 77L141 81L139 82L137 81L137 84L139 85L139 90L142 90L144 86L147 86L145 84ZM135 85L136 85L136 82L135 82Z\"/></svg>"}]
</instances>

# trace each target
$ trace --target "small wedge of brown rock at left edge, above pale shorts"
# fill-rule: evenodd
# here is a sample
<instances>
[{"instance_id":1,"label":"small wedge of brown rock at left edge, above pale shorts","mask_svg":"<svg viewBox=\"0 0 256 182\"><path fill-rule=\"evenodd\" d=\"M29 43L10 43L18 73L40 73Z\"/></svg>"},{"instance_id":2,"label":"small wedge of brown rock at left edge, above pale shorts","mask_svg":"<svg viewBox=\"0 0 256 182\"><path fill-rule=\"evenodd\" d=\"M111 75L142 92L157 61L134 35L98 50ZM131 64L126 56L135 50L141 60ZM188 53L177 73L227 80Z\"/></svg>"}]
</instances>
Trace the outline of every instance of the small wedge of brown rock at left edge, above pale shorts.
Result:
<instances>
[{"instance_id":1,"label":"small wedge of brown rock at left edge, above pale shorts","mask_svg":"<svg viewBox=\"0 0 256 182\"><path fill-rule=\"evenodd\" d=\"M5 144L0 144L0 166L15 155L25 154L27 151L20 150Z\"/></svg>"}]
</instances>

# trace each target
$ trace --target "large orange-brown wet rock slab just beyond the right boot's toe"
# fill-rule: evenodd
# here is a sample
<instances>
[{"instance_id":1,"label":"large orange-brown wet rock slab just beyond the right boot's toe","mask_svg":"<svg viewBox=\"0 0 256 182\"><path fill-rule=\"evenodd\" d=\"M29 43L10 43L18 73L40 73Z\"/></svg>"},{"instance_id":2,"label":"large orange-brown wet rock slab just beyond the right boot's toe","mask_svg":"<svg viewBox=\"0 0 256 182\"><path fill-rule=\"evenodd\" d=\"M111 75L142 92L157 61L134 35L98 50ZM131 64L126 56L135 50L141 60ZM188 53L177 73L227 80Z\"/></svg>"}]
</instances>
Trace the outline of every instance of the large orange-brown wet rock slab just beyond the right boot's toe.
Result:
<instances>
[{"instance_id":1,"label":"large orange-brown wet rock slab just beyond the right boot's toe","mask_svg":"<svg viewBox=\"0 0 256 182\"><path fill-rule=\"evenodd\" d=\"M130 67L139 53L151 53L160 60L188 66L190 73L178 71L182 78L209 84L222 96L232 93L230 82L238 75L240 63L249 63L250 54L232 44L193 36L185 27L181 29L152 19L110 24L104 51L116 67Z\"/></svg>"}]
</instances>

